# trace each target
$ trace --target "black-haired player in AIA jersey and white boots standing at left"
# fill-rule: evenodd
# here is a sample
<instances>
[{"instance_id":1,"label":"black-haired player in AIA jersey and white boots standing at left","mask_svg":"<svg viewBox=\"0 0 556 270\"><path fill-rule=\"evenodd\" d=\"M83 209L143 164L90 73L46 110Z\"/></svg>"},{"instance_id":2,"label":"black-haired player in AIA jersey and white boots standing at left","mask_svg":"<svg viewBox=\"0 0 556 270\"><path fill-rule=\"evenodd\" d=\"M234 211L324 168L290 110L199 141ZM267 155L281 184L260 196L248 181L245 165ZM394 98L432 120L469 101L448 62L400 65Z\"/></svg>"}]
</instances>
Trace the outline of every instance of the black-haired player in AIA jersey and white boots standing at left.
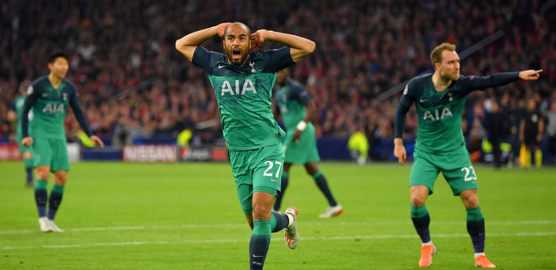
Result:
<instances>
[{"instance_id":1,"label":"black-haired player in AIA jersey and white boots standing at left","mask_svg":"<svg viewBox=\"0 0 556 270\"><path fill-rule=\"evenodd\" d=\"M102 140L94 135L87 125L85 114L77 98L77 89L65 79L69 69L68 58L62 52L54 52L48 57L50 73L40 77L27 88L22 111L22 144L31 146L33 165L36 168L35 201L38 210L39 228L43 232L63 232L54 223L54 216L66 185L69 161L67 152L64 117L68 106L73 110L81 128L96 145L104 146ZM33 121L29 128L28 113L33 109ZM29 132L30 130L30 132ZM47 193L48 177L54 175L54 184ZM48 200L49 199L49 200ZM46 201L48 200L48 215Z\"/></svg>"}]
</instances>

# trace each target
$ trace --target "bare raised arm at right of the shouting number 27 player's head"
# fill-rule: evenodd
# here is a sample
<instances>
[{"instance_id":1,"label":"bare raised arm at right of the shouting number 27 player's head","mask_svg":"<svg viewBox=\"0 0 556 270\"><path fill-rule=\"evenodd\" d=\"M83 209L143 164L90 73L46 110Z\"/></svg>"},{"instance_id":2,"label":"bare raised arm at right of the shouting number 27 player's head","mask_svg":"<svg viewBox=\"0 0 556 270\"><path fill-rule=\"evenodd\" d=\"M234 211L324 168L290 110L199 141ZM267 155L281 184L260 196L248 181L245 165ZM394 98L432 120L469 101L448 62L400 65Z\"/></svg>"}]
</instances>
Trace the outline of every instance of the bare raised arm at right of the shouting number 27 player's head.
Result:
<instances>
[{"instance_id":1,"label":"bare raised arm at right of the shouting number 27 player's head","mask_svg":"<svg viewBox=\"0 0 556 270\"><path fill-rule=\"evenodd\" d=\"M251 34L251 48L259 50L266 40L282 43L290 47L291 59L295 63L315 51L315 42L297 35L260 29Z\"/></svg>"}]
</instances>

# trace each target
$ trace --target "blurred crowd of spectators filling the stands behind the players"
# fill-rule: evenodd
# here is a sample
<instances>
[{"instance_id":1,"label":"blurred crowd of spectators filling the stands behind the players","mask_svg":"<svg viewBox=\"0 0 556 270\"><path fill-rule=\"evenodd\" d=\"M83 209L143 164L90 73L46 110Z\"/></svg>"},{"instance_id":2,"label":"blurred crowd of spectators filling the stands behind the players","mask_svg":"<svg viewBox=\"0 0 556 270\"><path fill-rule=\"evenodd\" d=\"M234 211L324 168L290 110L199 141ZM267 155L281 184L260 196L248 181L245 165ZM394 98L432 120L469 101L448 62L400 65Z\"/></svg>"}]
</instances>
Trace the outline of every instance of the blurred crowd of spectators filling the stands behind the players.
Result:
<instances>
[{"instance_id":1,"label":"blurred crowd of spectators filling the stands behind the players","mask_svg":"<svg viewBox=\"0 0 556 270\"><path fill-rule=\"evenodd\" d=\"M292 69L292 77L316 101L319 137L346 138L360 130L371 149L380 140L391 141L401 92L384 101L379 94L431 70L429 53L435 45L454 43L461 52L498 30L503 30L501 38L461 60L462 74L544 72L538 83L469 96L463 130L470 150L480 147L487 134L484 118L493 103L507 116L504 136L511 141L519 134L525 99L534 98L540 109L556 99L556 12L554 7L545 12L544 1L36 2L0 3L2 141L14 139L6 115L19 82L47 74L46 58L57 48L70 56L68 79L77 86L93 133L110 137L113 145L131 143L133 137L175 137L183 129L195 130L200 142L220 139L214 92L202 70L176 52L175 41L228 21L316 42L315 53ZM222 51L217 39L205 46ZM413 108L408 138L415 136L416 125ZM69 138L76 136L73 114L66 128ZM371 153L373 158L384 155Z\"/></svg>"}]
</instances>

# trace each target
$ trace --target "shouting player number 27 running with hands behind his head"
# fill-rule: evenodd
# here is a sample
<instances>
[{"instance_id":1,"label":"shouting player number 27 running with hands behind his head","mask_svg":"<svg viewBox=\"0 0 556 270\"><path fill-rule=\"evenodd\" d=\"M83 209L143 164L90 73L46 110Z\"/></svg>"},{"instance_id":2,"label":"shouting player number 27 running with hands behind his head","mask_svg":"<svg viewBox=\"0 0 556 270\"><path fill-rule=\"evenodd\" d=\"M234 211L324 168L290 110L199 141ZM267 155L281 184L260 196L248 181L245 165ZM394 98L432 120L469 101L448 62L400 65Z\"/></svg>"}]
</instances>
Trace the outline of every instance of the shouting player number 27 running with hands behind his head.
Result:
<instances>
[{"instance_id":1,"label":"shouting player number 27 running with hands behind his head","mask_svg":"<svg viewBox=\"0 0 556 270\"><path fill-rule=\"evenodd\" d=\"M224 39L226 54L203 47L213 37ZM266 40L286 47L261 50ZM250 49L256 52L249 53ZM315 50L315 43L296 35L265 29L251 33L243 23L221 23L176 41L176 49L205 70L215 90L224 138L241 208L252 229L249 243L251 269L264 266L271 232L285 228L287 246L299 241L297 209L271 213L280 192L284 150L282 130L272 116L272 87L276 73Z\"/></svg>"}]
</instances>

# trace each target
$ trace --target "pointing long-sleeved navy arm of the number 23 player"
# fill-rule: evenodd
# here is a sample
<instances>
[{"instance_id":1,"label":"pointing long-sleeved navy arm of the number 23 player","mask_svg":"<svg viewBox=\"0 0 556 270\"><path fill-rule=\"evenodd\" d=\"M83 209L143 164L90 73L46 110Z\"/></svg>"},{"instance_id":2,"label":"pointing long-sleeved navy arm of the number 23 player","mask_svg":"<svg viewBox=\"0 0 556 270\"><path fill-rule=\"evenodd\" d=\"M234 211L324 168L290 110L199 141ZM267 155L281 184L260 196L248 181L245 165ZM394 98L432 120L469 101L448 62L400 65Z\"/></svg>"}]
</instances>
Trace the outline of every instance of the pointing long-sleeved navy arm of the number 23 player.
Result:
<instances>
[{"instance_id":1,"label":"pointing long-sleeved navy arm of the number 23 player","mask_svg":"<svg viewBox=\"0 0 556 270\"><path fill-rule=\"evenodd\" d=\"M483 90L486 88L502 86L505 84L512 83L512 81L522 80L537 80L540 74L543 72L540 70L524 70L522 72L504 72L496 73L485 77L475 77L468 76L464 78L464 83L467 84L469 90Z\"/></svg>"}]
</instances>

